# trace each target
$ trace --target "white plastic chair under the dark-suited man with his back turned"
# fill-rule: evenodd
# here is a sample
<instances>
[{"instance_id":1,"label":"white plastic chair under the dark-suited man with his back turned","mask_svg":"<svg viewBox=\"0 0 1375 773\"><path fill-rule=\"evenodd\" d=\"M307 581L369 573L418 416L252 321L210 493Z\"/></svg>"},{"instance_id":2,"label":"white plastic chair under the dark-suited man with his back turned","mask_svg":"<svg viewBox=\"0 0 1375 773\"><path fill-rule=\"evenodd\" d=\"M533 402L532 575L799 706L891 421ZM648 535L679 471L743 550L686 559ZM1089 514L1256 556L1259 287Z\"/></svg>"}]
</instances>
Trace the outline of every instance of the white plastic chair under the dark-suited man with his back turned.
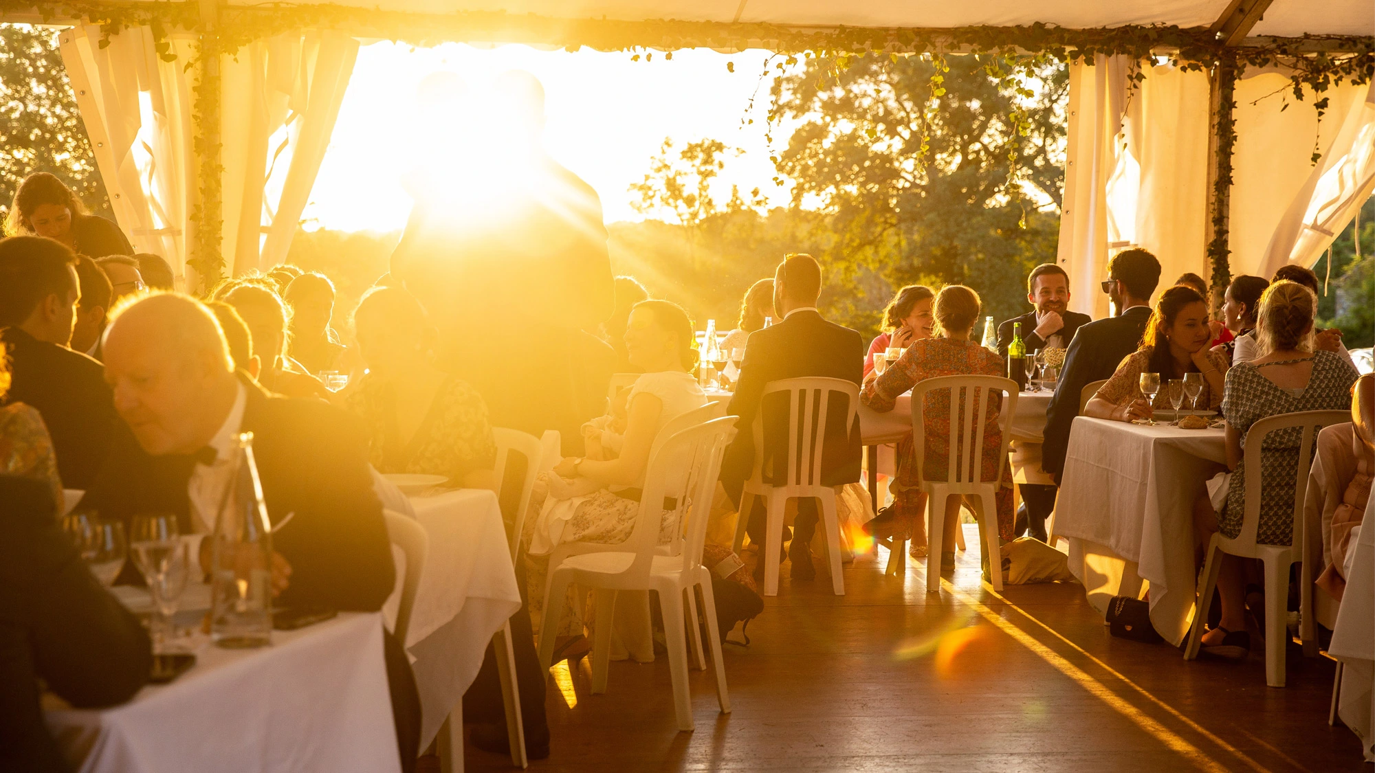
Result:
<instances>
[{"instance_id":1,"label":"white plastic chair under the dark-suited man with his back turned","mask_svg":"<svg viewBox=\"0 0 1375 773\"><path fill-rule=\"evenodd\" d=\"M764 426L763 413L755 417L755 470L745 481L740 497L740 520L736 523L734 550L745 542L748 516L754 509L749 497L764 499L764 543L759 557L764 563L764 596L778 596L778 547L782 545L782 516L788 499L820 499L821 527L826 532L826 553L830 560L830 587L836 596L846 594L846 578L840 571L840 525L836 517L836 490L821 483L821 457L826 437L826 411L830 395L846 396L846 432L855 425L859 411L859 386L843 378L784 378L764 385L760 404L769 395L788 393L788 469L784 481L763 481ZM777 470L771 470L777 476ZM747 509L745 502L749 502Z\"/></svg>"}]
</instances>

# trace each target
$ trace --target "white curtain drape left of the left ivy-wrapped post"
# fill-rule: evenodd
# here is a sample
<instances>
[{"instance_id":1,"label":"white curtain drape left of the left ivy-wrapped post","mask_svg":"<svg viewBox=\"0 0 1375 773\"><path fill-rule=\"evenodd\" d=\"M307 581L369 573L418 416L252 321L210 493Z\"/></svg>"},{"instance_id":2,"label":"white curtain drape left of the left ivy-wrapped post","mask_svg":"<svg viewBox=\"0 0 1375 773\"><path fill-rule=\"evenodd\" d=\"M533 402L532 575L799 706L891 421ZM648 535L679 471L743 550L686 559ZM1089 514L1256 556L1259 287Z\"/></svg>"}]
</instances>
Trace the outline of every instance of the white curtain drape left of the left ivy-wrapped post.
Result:
<instances>
[{"instance_id":1,"label":"white curtain drape left of the left ivy-wrapped post","mask_svg":"<svg viewBox=\"0 0 1375 773\"><path fill-rule=\"evenodd\" d=\"M98 26L58 36L96 166L133 249L165 257L180 278L195 198L186 62L197 43L173 37L177 59L164 62L148 28L126 29L104 48L100 37Z\"/></svg>"}]
</instances>

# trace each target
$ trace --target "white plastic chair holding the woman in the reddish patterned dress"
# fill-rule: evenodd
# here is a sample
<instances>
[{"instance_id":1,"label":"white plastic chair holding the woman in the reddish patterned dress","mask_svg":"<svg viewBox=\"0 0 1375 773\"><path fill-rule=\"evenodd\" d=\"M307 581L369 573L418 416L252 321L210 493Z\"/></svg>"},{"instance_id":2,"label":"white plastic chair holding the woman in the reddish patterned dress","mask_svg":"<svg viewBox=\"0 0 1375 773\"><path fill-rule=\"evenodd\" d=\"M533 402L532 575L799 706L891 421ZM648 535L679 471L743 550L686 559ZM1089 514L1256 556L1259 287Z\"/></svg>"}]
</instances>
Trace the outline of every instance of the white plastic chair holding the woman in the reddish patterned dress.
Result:
<instances>
[{"instance_id":1,"label":"white plastic chair holding the woman in the reddish patterned dress","mask_svg":"<svg viewBox=\"0 0 1375 773\"><path fill-rule=\"evenodd\" d=\"M936 389L950 391L950 458L946 480L927 480L925 461L925 396ZM983 437L987 429L989 404L994 393L1005 393L998 407L998 431L1002 446L994 451L998 470L993 480L983 479ZM962 411L960 410L962 406ZM996 497L1008 464L1008 439L1012 437L1012 414L1018 409L1018 382L998 375L942 375L918 381L912 389L912 443L916 448L916 473L927 494L927 593L940 590L940 546L945 532L946 499L968 497L979 521L979 538L989 558L993 590L1002 590L1002 552L998 547L998 517ZM958 527L957 527L958 528Z\"/></svg>"}]
</instances>

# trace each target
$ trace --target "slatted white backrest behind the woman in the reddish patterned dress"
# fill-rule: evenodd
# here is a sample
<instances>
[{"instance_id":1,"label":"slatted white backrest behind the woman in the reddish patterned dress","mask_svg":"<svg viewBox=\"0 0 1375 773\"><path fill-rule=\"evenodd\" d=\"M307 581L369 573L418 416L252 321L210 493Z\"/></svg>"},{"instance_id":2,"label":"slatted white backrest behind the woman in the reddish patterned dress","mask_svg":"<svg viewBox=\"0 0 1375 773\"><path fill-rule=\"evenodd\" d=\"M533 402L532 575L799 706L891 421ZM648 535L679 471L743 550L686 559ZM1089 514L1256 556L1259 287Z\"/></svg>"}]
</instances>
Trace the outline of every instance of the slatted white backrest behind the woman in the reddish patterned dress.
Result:
<instances>
[{"instance_id":1,"label":"slatted white backrest behind the woman in the reddish patterned dress","mask_svg":"<svg viewBox=\"0 0 1375 773\"><path fill-rule=\"evenodd\" d=\"M1012 414L1018 409L1018 382L1001 375L940 375L918 381L912 389L912 440L917 461L917 480L927 480L925 464L925 396L938 389L950 391L950 461L943 481L960 488L982 484L997 486L1002 480L1002 466L1008 462L1006 446L1012 439ZM983 479L983 437L987 429L989 403L994 393L1006 393L998 407L998 431L1002 448L997 451L998 473ZM979 399L984 395L984 399ZM1001 396L1001 395L1000 395ZM961 410L962 407L962 410Z\"/></svg>"}]
</instances>

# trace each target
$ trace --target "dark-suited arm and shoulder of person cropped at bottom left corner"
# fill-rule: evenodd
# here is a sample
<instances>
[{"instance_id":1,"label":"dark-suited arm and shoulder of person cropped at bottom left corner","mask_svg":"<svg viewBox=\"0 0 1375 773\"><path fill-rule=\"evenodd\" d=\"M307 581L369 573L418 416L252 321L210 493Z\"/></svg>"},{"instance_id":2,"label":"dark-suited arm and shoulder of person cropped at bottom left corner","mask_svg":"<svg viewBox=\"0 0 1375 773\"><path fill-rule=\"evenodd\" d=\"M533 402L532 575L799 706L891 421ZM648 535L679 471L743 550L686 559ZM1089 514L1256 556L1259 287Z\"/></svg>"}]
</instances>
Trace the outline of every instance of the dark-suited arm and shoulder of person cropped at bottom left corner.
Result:
<instances>
[{"instance_id":1,"label":"dark-suited arm and shoulder of person cropped at bottom left corner","mask_svg":"<svg viewBox=\"0 0 1375 773\"><path fill-rule=\"evenodd\" d=\"M139 619L87 568L41 481L0 476L0 770L56 773L40 679L78 708L133 697L153 645Z\"/></svg>"}]
</instances>

